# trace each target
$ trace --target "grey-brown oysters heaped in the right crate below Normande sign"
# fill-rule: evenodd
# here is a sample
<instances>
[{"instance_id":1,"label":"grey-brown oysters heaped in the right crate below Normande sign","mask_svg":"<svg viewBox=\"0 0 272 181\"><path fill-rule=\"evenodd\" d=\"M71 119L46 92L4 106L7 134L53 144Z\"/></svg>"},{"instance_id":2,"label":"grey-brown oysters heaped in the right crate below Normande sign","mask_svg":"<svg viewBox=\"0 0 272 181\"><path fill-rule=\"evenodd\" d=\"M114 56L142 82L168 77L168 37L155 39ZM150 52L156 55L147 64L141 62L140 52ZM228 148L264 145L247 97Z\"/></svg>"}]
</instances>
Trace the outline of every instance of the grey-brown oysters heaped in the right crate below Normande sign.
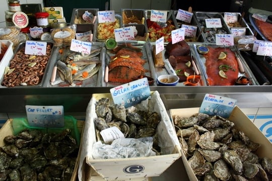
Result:
<instances>
[{"instance_id":1,"label":"grey-brown oysters heaped in the right crate below Normande sign","mask_svg":"<svg viewBox=\"0 0 272 181\"><path fill-rule=\"evenodd\" d=\"M174 120L182 151L199 180L271 180L272 159L259 158L260 146L234 123L198 113Z\"/></svg>"}]
</instances>

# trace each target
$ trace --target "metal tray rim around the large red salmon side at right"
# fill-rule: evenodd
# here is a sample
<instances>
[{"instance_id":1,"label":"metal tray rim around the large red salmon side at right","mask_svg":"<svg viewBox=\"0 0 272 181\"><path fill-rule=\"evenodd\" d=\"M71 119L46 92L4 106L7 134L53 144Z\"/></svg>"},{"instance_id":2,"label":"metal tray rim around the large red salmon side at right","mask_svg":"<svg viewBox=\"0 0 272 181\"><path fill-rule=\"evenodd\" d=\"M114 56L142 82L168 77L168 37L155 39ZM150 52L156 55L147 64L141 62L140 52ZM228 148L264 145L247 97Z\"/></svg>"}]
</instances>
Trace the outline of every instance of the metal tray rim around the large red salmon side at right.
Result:
<instances>
[{"instance_id":1,"label":"metal tray rim around the large red salmon side at right","mask_svg":"<svg viewBox=\"0 0 272 181\"><path fill-rule=\"evenodd\" d=\"M202 44L203 46L206 46L206 47L211 47L211 48L226 48L226 49L230 49L230 47L227 47L227 46L219 46L219 45L215 45L215 44ZM199 46L199 44L192 44L191 45L194 49L194 52L195 52L195 55L196 55L196 60L198 62L198 64L200 65L200 71L201 73L203 74L203 76L205 76L205 79L206 79L206 84L207 85L210 85L209 84L209 76L207 75L206 73L206 58L197 52L197 46ZM243 56L240 54L240 52L238 50L235 51L238 55L238 57L240 58L240 60L242 61L242 64L243 64L243 67L245 69L245 72L244 73L241 73L239 72L238 73L238 76L246 76L250 79L249 81L249 85L259 85L258 81L256 80L254 74L252 73L252 71L250 70L250 68L248 67L247 63L245 62ZM233 84L234 85L234 84Z\"/></svg>"}]
</instances>

